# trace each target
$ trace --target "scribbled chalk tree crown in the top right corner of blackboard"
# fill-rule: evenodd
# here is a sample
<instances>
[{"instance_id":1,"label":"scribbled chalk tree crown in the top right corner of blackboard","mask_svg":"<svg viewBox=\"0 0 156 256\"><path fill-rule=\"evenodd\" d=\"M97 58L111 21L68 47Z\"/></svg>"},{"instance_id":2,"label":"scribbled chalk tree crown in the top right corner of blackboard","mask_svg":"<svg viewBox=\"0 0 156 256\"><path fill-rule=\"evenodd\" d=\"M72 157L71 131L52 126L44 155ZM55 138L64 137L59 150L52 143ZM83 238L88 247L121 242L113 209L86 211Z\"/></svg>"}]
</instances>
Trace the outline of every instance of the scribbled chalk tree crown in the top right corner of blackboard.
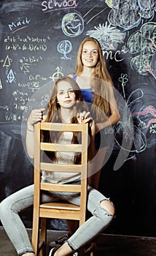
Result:
<instances>
[{"instance_id":1,"label":"scribbled chalk tree crown in the top right corner of blackboard","mask_svg":"<svg viewBox=\"0 0 156 256\"><path fill-rule=\"evenodd\" d=\"M125 31L130 30L139 26L141 20L152 19L155 15L155 6L155 0L113 1L108 20L112 26L120 26Z\"/></svg>"}]
</instances>

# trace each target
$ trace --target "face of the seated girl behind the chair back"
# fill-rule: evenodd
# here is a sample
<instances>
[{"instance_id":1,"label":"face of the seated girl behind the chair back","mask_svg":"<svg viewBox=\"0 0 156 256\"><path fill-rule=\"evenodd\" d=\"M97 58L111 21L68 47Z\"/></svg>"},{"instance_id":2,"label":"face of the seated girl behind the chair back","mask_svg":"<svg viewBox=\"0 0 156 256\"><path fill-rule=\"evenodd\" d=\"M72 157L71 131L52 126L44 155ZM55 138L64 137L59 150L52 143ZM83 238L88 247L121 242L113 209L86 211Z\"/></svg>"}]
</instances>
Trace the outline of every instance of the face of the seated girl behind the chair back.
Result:
<instances>
[{"instance_id":1,"label":"face of the seated girl behind the chair back","mask_svg":"<svg viewBox=\"0 0 156 256\"><path fill-rule=\"evenodd\" d=\"M73 108L76 103L76 95L74 89L69 82L58 82L57 102L61 108Z\"/></svg>"}]
</instances>

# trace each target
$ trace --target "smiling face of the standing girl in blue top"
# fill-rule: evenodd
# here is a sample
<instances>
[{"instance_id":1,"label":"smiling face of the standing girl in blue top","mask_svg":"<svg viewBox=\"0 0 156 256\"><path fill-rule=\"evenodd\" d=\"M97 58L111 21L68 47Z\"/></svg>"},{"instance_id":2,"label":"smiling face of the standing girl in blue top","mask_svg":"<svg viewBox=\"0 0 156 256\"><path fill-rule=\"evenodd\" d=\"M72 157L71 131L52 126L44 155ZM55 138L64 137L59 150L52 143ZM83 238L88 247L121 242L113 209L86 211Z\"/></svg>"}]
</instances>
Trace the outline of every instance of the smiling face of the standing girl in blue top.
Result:
<instances>
[{"instance_id":1,"label":"smiling face of the standing girl in blue top","mask_svg":"<svg viewBox=\"0 0 156 256\"><path fill-rule=\"evenodd\" d=\"M95 67L98 62L98 46L95 42L85 42L82 48L82 64L85 67Z\"/></svg>"}]
</instances>

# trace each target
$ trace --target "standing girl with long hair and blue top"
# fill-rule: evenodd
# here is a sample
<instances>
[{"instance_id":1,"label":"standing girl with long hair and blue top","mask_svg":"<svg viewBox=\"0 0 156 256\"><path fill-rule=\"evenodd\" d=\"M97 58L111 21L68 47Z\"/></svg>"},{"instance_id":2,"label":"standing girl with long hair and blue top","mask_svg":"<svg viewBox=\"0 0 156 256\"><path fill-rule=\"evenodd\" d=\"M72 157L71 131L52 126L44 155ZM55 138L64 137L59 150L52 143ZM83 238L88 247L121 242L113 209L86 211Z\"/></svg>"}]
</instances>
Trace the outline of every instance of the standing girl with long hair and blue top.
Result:
<instances>
[{"instance_id":1,"label":"standing girl with long hair and blue top","mask_svg":"<svg viewBox=\"0 0 156 256\"><path fill-rule=\"evenodd\" d=\"M98 154L94 161L96 168L92 186L98 189L101 167L104 164L106 146L109 142L105 129L112 127L120 120L114 97L114 86L106 69L98 40L87 37L81 42L77 53L76 72L70 76L77 81L82 97L89 103L90 113L95 121L95 148Z\"/></svg>"}]
</instances>

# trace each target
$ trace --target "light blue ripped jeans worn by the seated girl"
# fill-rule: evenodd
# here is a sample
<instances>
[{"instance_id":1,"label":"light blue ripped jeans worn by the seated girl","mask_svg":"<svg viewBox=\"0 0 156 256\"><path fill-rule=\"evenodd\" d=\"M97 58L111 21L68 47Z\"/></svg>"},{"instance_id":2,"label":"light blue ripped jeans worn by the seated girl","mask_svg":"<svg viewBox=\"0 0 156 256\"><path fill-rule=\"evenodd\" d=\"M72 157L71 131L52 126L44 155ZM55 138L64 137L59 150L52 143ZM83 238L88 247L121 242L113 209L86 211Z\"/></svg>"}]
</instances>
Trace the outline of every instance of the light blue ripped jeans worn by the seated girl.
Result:
<instances>
[{"instance_id":1,"label":"light blue ripped jeans worn by the seated girl","mask_svg":"<svg viewBox=\"0 0 156 256\"><path fill-rule=\"evenodd\" d=\"M79 195L75 193L49 192L42 195L42 202L52 202L65 200L66 202L79 205ZM109 200L96 189L88 186L87 210L92 217L81 225L73 236L67 241L69 246L75 251L80 246L101 233L112 222L113 216L104 208L101 208L101 201ZM31 241L28 238L26 227L19 217L21 211L33 206L34 203L34 185L20 189L14 194L4 199L0 204L1 223L6 230L7 236L15 246L17 255L23 255L26 252L33 252Z\"/></svg>"}]
</instances>

